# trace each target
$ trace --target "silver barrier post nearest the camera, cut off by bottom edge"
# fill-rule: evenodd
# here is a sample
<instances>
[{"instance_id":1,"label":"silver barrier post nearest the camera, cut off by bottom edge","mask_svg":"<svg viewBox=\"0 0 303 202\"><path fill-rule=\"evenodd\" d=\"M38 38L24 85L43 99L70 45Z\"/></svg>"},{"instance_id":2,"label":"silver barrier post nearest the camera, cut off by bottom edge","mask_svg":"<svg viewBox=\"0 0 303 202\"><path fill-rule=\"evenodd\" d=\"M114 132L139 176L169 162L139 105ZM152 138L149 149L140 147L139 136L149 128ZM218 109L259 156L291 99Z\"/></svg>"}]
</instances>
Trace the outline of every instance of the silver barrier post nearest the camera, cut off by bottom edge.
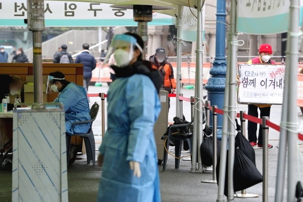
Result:
<instances>
[{"instance_id":1,"label":"silver barrier post nearest the camera, cut off by bottom edge","mask_svg":"<svg viewBox=\"0 0 303 202\"><path fill-rule=\"evenodd\" d=\"M268 116L262 117L262 134L263 134L263 189L262 189L262 202L268 200L268 130L266 126L266 120L269 120ZM294 181L295 184L295 181ZM295 196L295 192L293 193Z\"/></svg>"}]
</instances>

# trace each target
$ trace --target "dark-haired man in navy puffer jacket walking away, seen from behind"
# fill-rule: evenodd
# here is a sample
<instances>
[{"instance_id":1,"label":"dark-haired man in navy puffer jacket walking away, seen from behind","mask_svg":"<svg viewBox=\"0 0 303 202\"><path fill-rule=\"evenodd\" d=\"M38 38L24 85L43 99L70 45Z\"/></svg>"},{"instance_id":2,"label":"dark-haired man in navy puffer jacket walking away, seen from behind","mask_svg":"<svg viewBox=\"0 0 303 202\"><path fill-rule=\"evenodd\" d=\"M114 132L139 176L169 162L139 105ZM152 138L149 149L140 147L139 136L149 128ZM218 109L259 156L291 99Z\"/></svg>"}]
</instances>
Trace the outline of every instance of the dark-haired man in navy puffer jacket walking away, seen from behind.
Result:
<instances>
[{"instance_id":1,"label":"dark-haired man in navy puffer jacket walking away, seen from behind","mask_svg":"<svg viewBox=\"0 0 303 202\"><path fill-rule=\"evenodd\" d=\"M89 54L89 45L83 44L82 52L77 55L75 63L83 64L83 86L87 90L92 76L92 70L96 68L95 57Z\"/></svg>"}]
</instances>

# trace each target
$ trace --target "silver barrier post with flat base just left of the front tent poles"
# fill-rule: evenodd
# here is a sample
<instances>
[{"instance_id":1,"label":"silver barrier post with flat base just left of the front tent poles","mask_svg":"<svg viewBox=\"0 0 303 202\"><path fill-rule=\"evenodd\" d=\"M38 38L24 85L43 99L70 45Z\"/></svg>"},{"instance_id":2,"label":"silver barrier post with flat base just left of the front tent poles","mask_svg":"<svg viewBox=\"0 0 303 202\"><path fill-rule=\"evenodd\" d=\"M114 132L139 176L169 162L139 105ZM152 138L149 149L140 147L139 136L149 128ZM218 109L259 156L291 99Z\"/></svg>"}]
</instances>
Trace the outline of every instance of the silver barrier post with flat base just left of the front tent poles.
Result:
<instances>
[{"instance_id":1,"label":"silver barrier post with flat base just left of the front tent poles","mask_svg":"<svg viewBox=\"0 0 303 202\"><path fill-rule=\"evenodd\" d=\"M203 180L203 183L216 183L216 161L217 161L217 146L216 146L216 130L217 130L217 113L216 109L218 108L216 105L212 106L213 108L213 180Z\"/></svg>"}]
</instances>

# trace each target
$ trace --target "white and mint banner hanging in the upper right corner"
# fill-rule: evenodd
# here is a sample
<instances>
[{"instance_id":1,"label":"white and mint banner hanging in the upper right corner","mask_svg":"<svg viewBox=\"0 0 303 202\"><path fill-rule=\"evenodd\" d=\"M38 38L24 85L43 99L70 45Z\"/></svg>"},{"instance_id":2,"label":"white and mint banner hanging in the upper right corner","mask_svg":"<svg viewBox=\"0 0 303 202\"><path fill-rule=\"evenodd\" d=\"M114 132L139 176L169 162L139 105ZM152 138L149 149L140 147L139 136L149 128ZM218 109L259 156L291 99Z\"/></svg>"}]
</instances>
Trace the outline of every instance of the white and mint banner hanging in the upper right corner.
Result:
<instances>
[{"instance_id":1,"label":"white and mint banner hanging in the upper right corner","mask_svg":"<svg viewBox=\"0 0 303 202\"><path fill-rule=\"evenodd\" d=\"M238 32L247 34L278 34L287 32L289 0L239 0ZM303 0L300 0L300 24L303 18Z\"/></svg>"}]
</instances>

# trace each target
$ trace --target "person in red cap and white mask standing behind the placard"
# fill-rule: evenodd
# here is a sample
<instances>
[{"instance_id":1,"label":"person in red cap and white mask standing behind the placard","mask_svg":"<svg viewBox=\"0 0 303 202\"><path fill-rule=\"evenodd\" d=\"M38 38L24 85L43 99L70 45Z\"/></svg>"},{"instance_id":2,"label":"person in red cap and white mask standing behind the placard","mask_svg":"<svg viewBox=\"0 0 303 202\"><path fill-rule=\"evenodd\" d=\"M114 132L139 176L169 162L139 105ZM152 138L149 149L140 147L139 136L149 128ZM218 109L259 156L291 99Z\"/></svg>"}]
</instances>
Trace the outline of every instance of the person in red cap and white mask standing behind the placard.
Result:
<instances>
[{"instance_id":1,"label":"person in red cap and white mask standing behind the placard","mask_svg":"<svg viewBox=\"0 0 303 202\"><path fill-rule=\"evenodd\" d=\"M272 47L269 44L261 44L259 48L259 57L253 58L247 62L247 64L275 64L271 60L271 55L273 54ZM259 104L259 105L248 105L248 114L258 117L258 108L260 110L260 117L270 115L270 106L268 104ZM252 147L257 146L257 123L248 120L247 124L248 130L248 141ZM262 127L259 125L259 136L258 136L258 147L263 147L262 143ZM268 144L268 148L272 148L273 145Z\"/></svg>"}]
</instances>

